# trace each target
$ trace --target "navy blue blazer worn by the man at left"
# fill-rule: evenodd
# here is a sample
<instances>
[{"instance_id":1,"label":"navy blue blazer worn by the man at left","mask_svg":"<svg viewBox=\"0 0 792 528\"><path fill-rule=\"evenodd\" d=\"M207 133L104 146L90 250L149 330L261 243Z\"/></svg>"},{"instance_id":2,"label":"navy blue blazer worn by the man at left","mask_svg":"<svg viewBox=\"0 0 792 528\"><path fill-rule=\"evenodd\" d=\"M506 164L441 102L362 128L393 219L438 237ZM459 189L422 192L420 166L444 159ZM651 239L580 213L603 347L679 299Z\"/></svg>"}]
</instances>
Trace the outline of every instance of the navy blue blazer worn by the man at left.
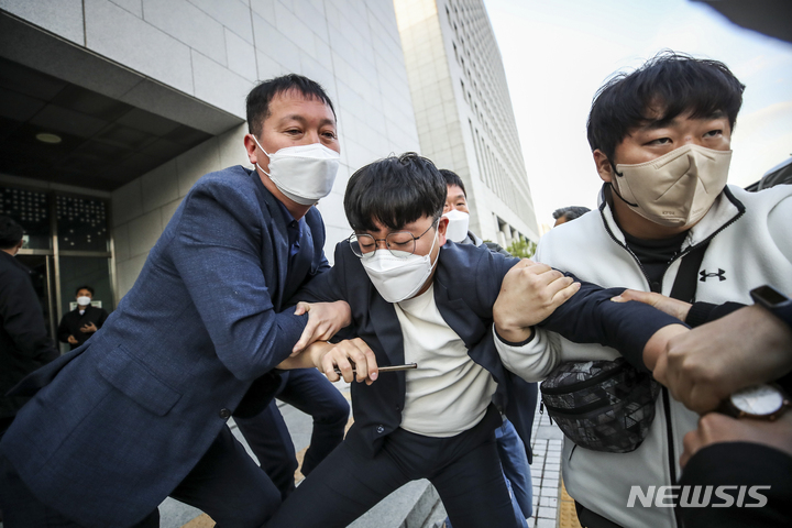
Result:
<instances>
[{"instance_id":1,"label":"navy blue blazer worn by the man at left","mask_svg":"<svg viewBox=\"0 0 792 528\"><path fill-rule=\"evenodd\" d=\"M28 486L81 526L151 513L299 339L307 318L283 301L328 268L319 211L300 223L287 270L286 223L258 175L198 180L105 326L23 382L43 388L0 449Z\"/></svg>"}]
</instances>

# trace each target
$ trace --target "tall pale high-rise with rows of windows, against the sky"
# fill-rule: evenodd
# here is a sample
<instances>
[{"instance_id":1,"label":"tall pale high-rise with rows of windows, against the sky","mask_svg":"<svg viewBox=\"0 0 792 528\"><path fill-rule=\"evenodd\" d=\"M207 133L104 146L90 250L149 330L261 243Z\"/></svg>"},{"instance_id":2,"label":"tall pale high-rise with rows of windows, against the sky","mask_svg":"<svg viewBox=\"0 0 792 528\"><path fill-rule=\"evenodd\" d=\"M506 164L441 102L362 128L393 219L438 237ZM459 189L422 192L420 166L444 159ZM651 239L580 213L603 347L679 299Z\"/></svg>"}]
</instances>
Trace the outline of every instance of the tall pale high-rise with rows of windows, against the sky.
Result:
<instances>
[{"instance_id":1,"label":"tall pale high-rise with rows of windows, against the sky","mask_svg":"<svg viewBox=\"0 0 792 528\"><path fill-rule=\"evenodd\" d=\"M508 245L539 229L501 52L483 0L394 0L421 154L460 175L471 230Z\"/></svg>"}]
</instances>

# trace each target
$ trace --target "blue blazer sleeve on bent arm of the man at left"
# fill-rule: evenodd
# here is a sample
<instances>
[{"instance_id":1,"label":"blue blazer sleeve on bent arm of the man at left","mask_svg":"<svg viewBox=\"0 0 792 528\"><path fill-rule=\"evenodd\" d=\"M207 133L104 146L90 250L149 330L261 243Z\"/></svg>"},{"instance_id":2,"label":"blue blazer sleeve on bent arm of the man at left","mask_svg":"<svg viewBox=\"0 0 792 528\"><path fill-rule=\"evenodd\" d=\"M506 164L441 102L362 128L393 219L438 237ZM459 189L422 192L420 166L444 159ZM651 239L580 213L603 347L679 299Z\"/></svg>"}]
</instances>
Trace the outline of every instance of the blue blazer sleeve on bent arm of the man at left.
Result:
<instances>
[{"instance_id":1,"label":"blue blazer sleeve on bent arm of the man at left","mask_svg":"<svg viewBox=\"0 0 792 528\"><path fill-rule=\"evenodd\" d=\"M176 270L220 361L239 380L256 378L289 355L308 316L274 310L261 270L260 241L271 233L256 222L256 204L205 180L183 207L169 250Z\"/></svg>"}]
</instances>

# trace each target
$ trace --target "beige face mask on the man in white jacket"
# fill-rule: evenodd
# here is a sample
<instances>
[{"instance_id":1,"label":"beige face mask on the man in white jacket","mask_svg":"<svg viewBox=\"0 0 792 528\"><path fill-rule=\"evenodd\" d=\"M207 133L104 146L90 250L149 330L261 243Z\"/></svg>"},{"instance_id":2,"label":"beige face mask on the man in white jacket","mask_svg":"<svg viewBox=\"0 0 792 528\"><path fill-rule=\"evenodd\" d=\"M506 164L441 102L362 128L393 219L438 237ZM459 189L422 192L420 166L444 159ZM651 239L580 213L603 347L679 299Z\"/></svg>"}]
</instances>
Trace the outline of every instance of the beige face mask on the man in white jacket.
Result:
<instances>
[{"instance_id":1,"label":"beige face mask on the man in white jacket","mask_svg":"<svg viewBox=\"0 0 792 528\"><path fill-rule=\"evenodd\" d=\"M616 165L613 185L641 217L670 228L690 227L726 187L732 151L685 145L651 162Z\"/></svg>"}]
</instances>

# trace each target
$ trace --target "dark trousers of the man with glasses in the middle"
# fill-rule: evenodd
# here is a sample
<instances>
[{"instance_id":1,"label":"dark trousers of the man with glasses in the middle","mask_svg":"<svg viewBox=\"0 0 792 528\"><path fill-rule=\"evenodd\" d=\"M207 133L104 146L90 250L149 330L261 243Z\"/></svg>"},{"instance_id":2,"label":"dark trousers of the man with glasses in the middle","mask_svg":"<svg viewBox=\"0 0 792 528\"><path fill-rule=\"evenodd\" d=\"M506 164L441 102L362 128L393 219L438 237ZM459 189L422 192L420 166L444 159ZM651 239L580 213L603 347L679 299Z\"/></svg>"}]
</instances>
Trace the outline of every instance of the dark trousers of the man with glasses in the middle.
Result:
<instances>
[{"instance_id":1,"label":"dark trousers of the man with glasses in the middle","mask_svg":"<svg viewBox=\"0 0 792 528\"><path fill-rule=\"evenodd\" d=\"M267 528L345 527L404 484L428 479L457 528L517 527L495 447L491 406L463 433L430 438L397 429L371 458L341 443L283 504Z\"/></svg>"}]
</instances>

